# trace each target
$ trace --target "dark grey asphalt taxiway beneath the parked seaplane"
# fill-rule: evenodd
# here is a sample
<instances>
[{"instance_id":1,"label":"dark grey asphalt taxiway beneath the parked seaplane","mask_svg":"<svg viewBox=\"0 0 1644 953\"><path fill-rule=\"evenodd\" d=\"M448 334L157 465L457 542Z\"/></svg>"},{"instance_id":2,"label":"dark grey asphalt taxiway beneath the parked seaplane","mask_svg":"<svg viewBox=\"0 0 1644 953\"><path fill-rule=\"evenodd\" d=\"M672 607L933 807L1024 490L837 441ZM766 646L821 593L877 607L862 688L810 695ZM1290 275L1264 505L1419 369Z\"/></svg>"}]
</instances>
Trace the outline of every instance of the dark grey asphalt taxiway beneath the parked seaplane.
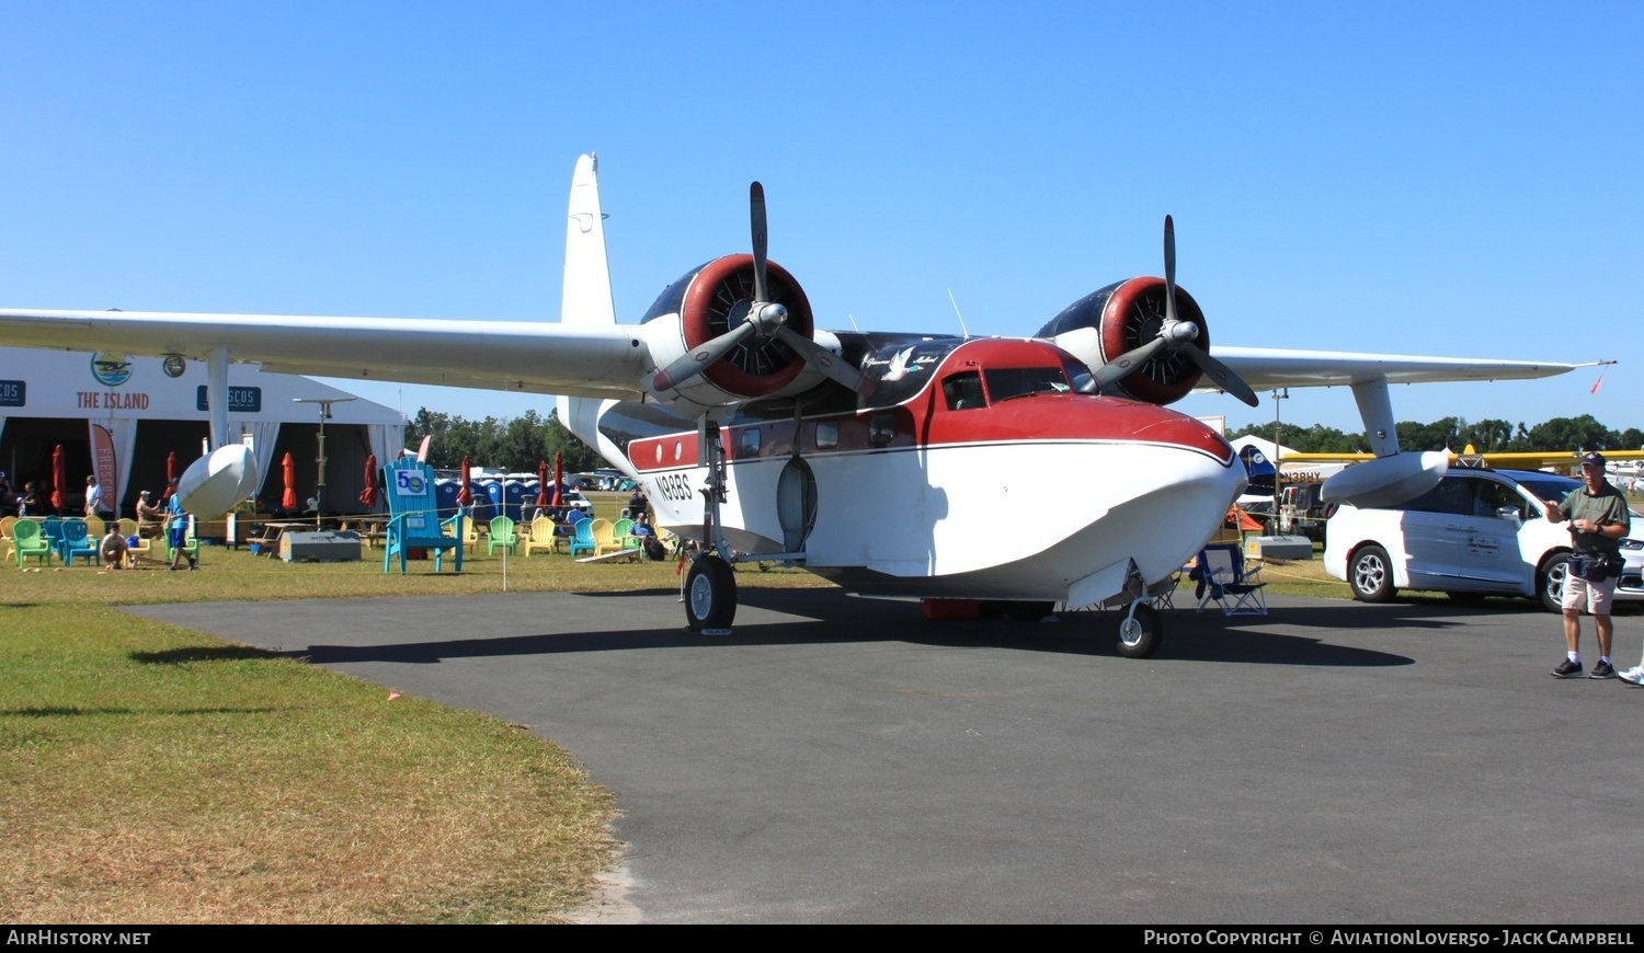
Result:
<instances>
[{"instance_id":1,"label":"dark grey asphalt taxiway beneath the parked seaplane","mask_svg":"<svg viewBox=\"0 0 1644 953\"><path fill-rule=\"evenodd\" d=\"M1644 690L1549 677L1527 601L1179 608L1129 661L1113 615L741 598L728 638L671 592L130 611L569 748L628 845L590 920L1637 918Z\"/></svg>"}]
</instances>

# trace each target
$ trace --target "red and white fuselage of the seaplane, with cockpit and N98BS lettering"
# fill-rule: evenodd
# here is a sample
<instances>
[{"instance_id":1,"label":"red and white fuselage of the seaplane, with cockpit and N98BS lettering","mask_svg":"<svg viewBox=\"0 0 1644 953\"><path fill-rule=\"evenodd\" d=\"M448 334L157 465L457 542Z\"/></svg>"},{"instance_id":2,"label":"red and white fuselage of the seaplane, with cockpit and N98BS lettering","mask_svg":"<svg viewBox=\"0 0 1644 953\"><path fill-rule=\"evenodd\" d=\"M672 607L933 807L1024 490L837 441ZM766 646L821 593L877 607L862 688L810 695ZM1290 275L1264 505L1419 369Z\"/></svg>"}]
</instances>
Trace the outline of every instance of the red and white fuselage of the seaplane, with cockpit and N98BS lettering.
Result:
<instances>
[{"instance_id":1,"label":"red and white fuselage of the seaplane, with cockpit and N98BS lettering","mask_svg":"<svg viewBox=\"0 0 1644 953\"><path fill-rule=\"evenodd\" d=\"M860 407L796 417L789 401L722 426L732 547L801 544L806 569L855 592L1088 605L1123 592L1131 565L1148 583L1180 569L1245 486L1233 449L1194 417L1070 386L1003 394L988 383L990 371L1065 370L1046 342L917 350L880 361L893 380ZM621 449L659 524L695 537L709 470L695 424L667 419L656 404L607 403L598 442Z\"/></svg>"}]
</instances>

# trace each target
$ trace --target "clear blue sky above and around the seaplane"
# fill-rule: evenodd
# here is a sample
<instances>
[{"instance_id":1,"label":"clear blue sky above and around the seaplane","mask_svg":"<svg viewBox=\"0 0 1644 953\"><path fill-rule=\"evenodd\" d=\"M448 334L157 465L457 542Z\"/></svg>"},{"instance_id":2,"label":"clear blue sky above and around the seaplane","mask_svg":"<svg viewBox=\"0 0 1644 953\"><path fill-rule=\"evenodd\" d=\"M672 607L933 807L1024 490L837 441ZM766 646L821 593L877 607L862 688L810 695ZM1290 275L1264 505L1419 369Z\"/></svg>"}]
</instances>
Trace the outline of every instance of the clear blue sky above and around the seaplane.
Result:
<instances>
[{"instance_id":1,"label":"clear blue sky above and around the seaplane","mask_svg":"<svg viewBox=\"0 0 1644 953\"><path fill-rule=\"evenodd\" d=\"M952 289L1031 334L1169 212L1213 342L1621 358L1394 409L1644 426L1644 5L1143 7L12 2L0 304L554 320L593 150L626 320L746 248L751 179L825 327L950 332Z\"/></svg>"}]
</instances>

